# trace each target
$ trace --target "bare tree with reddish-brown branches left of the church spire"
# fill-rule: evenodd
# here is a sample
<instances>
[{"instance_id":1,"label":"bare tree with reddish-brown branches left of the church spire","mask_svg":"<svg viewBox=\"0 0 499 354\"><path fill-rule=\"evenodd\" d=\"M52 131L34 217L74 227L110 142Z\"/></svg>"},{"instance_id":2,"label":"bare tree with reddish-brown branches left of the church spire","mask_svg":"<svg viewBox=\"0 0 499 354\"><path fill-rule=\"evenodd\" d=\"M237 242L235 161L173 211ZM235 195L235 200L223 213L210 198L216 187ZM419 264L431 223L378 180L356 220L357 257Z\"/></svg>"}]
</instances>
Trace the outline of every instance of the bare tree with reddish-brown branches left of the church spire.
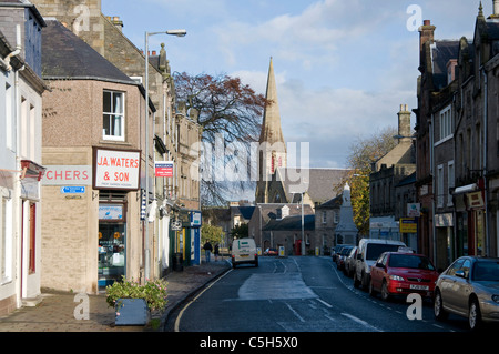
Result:
<instances>
[{"instance_id":1,"label":"bare tree with reddish-brown branches left of the church spire","mask_svg":"<svg viewBox=\"0 0 499 354\"><path fill-rule=\"evenodd\" d=\"M203 203L225 204L227 200L254 189L248 158L251 143L256 142L259 135L265 97L243 84L240 78L226 74L190 75L182 72L174 74L174 81L177 100L198 112L203 149L206 152L213 148L201 163ZM215 149L217 141L222 142L223 149ZM240 173L237 181L221 178L227 172L227 164L236 169L232 172ZM246 176L243 179L244 173Z\"/></svg>"}]
</instances>

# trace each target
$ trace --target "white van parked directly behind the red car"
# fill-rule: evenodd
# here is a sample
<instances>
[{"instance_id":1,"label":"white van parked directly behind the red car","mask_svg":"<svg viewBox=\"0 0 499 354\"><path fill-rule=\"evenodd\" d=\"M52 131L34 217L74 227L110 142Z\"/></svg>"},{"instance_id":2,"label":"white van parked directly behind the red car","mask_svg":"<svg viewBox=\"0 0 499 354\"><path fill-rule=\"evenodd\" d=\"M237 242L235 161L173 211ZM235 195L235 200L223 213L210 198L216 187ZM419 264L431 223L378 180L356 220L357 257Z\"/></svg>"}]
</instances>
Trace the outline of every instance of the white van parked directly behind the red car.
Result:
<instances>
[{"instance_id":1,"label":"white van parked directly behind the red car","mask_svg":"<svg viewBox=\"0 0 499 354\"><path fill-rule=\"evenodd\" d=\"M407 247L401 241L361 239L358 242L357 260L355 261L354 286L369 286L370 267L383 252L396 252L399 247Z\"/></svg>"}]
</instances>

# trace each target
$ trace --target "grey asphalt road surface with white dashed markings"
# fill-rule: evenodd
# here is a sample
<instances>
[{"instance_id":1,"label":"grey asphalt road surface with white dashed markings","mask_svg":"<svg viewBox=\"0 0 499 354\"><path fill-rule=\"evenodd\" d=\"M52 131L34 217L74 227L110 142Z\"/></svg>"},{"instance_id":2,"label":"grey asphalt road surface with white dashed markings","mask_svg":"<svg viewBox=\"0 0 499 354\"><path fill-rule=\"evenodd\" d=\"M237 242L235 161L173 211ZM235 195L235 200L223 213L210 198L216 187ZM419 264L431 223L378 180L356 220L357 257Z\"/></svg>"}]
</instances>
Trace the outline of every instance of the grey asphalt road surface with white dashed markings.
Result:
<instances>
[{"instance_id":1,"label":"grey asphalt road surface with white dashed markings","mask_svg":"<svg viewBox=\"0 0 499 354\"><path fill-rule=\"evenodd\" d=\"M420 314L419 318L410 320ZM170 316L174 332L461 332L434 320L430 301L385 302L353 286L330 257L264 257L242 265Z\"/></svg>"}]
</instances>

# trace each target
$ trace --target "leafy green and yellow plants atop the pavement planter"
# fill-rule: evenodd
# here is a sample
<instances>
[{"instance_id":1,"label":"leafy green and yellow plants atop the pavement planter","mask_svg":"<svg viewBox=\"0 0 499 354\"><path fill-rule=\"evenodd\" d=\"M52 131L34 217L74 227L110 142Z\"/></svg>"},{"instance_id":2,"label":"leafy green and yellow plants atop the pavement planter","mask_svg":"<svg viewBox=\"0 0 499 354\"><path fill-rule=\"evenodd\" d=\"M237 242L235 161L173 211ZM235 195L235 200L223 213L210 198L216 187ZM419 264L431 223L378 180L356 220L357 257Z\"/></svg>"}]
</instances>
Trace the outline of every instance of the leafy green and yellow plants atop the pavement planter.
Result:
<instances>
[{"instance_id":1,"label":"leafy green and yellow plants atop the pavement planter","mask_svg":"<svg viewBox=\"0 0 499 354\"><path fill-rule=\"evenodd\" d=\"M120 299L144 299L147 303L147 309L151 311L164 311L166 306L166 282L164 280L150 281L145 284L140 284L138 281L126 280L122 276L121 282L114 282L112 285L105 287L106 302L111 307L120 309L123 306L119 302Z\"/></svg>"}]
</instances>

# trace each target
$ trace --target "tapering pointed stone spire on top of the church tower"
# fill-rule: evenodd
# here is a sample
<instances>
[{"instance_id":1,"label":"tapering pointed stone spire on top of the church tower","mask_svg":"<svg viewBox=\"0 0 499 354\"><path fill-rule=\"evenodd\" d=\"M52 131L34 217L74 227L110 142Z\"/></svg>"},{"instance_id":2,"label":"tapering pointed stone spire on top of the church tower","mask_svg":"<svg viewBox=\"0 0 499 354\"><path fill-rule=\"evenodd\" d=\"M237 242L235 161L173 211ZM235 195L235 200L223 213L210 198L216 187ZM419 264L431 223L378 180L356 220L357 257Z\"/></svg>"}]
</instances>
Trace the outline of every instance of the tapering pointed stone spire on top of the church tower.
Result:
<instances>
[{"instance_id":1,"label":"tapering pointed stone spire on top of the church tower","mask_svg":"<svg viewBox=\"0 0 499 354\"><path fill-rule=\"evenodd\" d=\"M271 57L267 78L267 104L264 110L262 132L259 134L261 143L283 143L283 130L281 128L281 113L277 100L277 87L275 83L274 64Z\"/></svg>"}]
</instances>

